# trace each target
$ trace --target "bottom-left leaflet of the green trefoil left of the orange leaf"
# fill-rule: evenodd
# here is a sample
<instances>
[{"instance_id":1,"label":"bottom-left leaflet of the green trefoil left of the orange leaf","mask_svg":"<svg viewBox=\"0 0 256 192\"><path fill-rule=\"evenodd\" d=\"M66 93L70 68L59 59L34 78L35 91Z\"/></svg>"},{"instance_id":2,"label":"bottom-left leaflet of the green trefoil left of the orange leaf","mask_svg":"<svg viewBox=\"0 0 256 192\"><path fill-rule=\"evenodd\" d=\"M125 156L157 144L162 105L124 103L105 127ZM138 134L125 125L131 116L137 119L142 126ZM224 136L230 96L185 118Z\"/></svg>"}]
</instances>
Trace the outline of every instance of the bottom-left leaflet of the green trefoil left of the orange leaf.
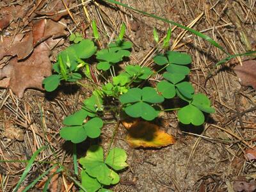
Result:
<instances>
[{"instance_id":1,"label":"bottom-left leaflet of the green trefoil left of the orange leaf","mask_svg":"<svg viewBox=\"0 0 256 192\"><path fill-rule=\"evenodd\" d=\"M86 131L82 125L62 127L60 130L60 136L64 140L72 141L72 143L81 143L87 138Z\"/></svg>"}]
</instances>

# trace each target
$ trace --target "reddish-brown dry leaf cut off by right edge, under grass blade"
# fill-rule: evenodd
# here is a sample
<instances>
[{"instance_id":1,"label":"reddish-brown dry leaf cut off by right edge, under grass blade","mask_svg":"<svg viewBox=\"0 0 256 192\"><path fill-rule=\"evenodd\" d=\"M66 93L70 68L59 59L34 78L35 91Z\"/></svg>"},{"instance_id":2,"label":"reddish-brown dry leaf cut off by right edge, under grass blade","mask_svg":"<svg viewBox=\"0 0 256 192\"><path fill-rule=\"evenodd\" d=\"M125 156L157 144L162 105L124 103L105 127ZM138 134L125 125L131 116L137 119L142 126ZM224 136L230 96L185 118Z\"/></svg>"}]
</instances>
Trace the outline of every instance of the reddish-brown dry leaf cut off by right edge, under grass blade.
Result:
<instances>
[{"instance_id":1,"label":"reddish-brown dry leaf cut off by right edge, under grass blade","mask_svg":"<svg viewBox=\"0 0 256 192\"><path fill-rule=\"evenodd\" d=\"M256 61L243 61L243 66L236 65L234 71L243 86L252 86L256 90Z\"/></svg>"}]
</instances>

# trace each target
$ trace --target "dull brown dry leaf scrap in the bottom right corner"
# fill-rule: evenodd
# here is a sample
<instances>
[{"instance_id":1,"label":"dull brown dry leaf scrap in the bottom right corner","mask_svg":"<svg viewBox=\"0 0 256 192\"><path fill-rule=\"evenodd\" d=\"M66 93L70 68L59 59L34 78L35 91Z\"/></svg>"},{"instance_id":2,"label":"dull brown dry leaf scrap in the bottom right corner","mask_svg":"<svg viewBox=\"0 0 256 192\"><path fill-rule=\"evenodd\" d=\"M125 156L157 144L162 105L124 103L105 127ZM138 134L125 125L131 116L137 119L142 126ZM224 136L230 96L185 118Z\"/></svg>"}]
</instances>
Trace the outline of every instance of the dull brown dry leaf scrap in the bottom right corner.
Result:
<instances>
[{"instance_id":1,"label":"dull brown dry leaf scrap in the bottom right corner","mask_svg":"<svg viewBox=\"0 0 256 192\"><path fill-rule=\"evenodd\" d=\"M253 192L256 190L256 181L251 180L247 182L244 179L235 180L233 184L234 191L236 192Z\"/></svg>"}]
</instances>

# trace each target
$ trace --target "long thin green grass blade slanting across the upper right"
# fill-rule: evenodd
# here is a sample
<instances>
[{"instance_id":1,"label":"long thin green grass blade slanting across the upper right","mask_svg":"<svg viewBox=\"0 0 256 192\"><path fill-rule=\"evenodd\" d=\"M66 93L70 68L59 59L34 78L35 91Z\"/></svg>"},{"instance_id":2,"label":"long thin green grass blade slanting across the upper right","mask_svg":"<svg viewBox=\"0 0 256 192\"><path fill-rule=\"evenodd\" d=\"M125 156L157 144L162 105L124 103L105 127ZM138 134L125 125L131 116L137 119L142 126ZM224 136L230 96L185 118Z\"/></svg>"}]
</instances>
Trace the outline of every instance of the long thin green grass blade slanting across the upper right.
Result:
<instances>
[{"instance_id":1,"label":"long thin green grass blade slanting across the upper right","mask_svg":"<svg viewBox=\"0 0 256 192\"><path fill-rule=\"evenodd\" d=\"M230 56L230 54L228 54L228 52L226 52L225 49L223 47L221 47L221 45L219 45L217 42L212 40L212 38L210 38L207 35L204 35L203 33L200 33L199 31L196 31L195 29L191 29L191 28L187 28L186 26L182 26L182 24L174 22L173 20L164 19L164 18L158 17L158 16L156 16L154 14L150 14L150 13L147 13L147 12L143 12L141 10L137 10L136 8L133 8L133 7L129 6L129 5L127 5L127 4L120 3L120 2L115 1L115 0L104 0L104 1L106 1L108 3L113 3L113 4L118 4L120 6L124 6L125 8L129 8L131 10L134 10L135 12L142 13L143 15L147 15L148 17L152 17L154 19L162 20L162 21L170 23L170 24L172 24L174 26L178 26L179 28L188 30L189 32L195 34L196 36L199 36L199 37L203 38L204 40L207 40L207 42L209 42L210 44L214 45L214 47L219 48L221 51L225 52L228 56Z\"/></svg>"}]
</instances>

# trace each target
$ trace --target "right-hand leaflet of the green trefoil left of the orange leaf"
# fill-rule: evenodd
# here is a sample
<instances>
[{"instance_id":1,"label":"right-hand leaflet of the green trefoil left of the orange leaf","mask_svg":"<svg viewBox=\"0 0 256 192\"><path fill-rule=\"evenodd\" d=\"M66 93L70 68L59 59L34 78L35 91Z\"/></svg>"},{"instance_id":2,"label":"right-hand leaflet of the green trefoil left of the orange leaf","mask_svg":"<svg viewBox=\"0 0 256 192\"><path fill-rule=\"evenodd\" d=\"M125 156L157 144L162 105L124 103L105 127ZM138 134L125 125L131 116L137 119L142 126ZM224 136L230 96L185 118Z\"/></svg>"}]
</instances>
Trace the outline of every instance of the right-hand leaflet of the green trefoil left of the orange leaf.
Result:
<instances>
[{"instance_id":1,"label":"right-hand leaflet of the green trefoil left of the orange leaf","mask_svg":"<svg viewBox=\"0 0 256 192\"><path fill-rule=\"evenodd\" d=\"M86 135L90 138L97 138L100 136L100 129L103 126L101 118L95 117L90 119L83 125Z\"/></svg>"}]
</instances>

